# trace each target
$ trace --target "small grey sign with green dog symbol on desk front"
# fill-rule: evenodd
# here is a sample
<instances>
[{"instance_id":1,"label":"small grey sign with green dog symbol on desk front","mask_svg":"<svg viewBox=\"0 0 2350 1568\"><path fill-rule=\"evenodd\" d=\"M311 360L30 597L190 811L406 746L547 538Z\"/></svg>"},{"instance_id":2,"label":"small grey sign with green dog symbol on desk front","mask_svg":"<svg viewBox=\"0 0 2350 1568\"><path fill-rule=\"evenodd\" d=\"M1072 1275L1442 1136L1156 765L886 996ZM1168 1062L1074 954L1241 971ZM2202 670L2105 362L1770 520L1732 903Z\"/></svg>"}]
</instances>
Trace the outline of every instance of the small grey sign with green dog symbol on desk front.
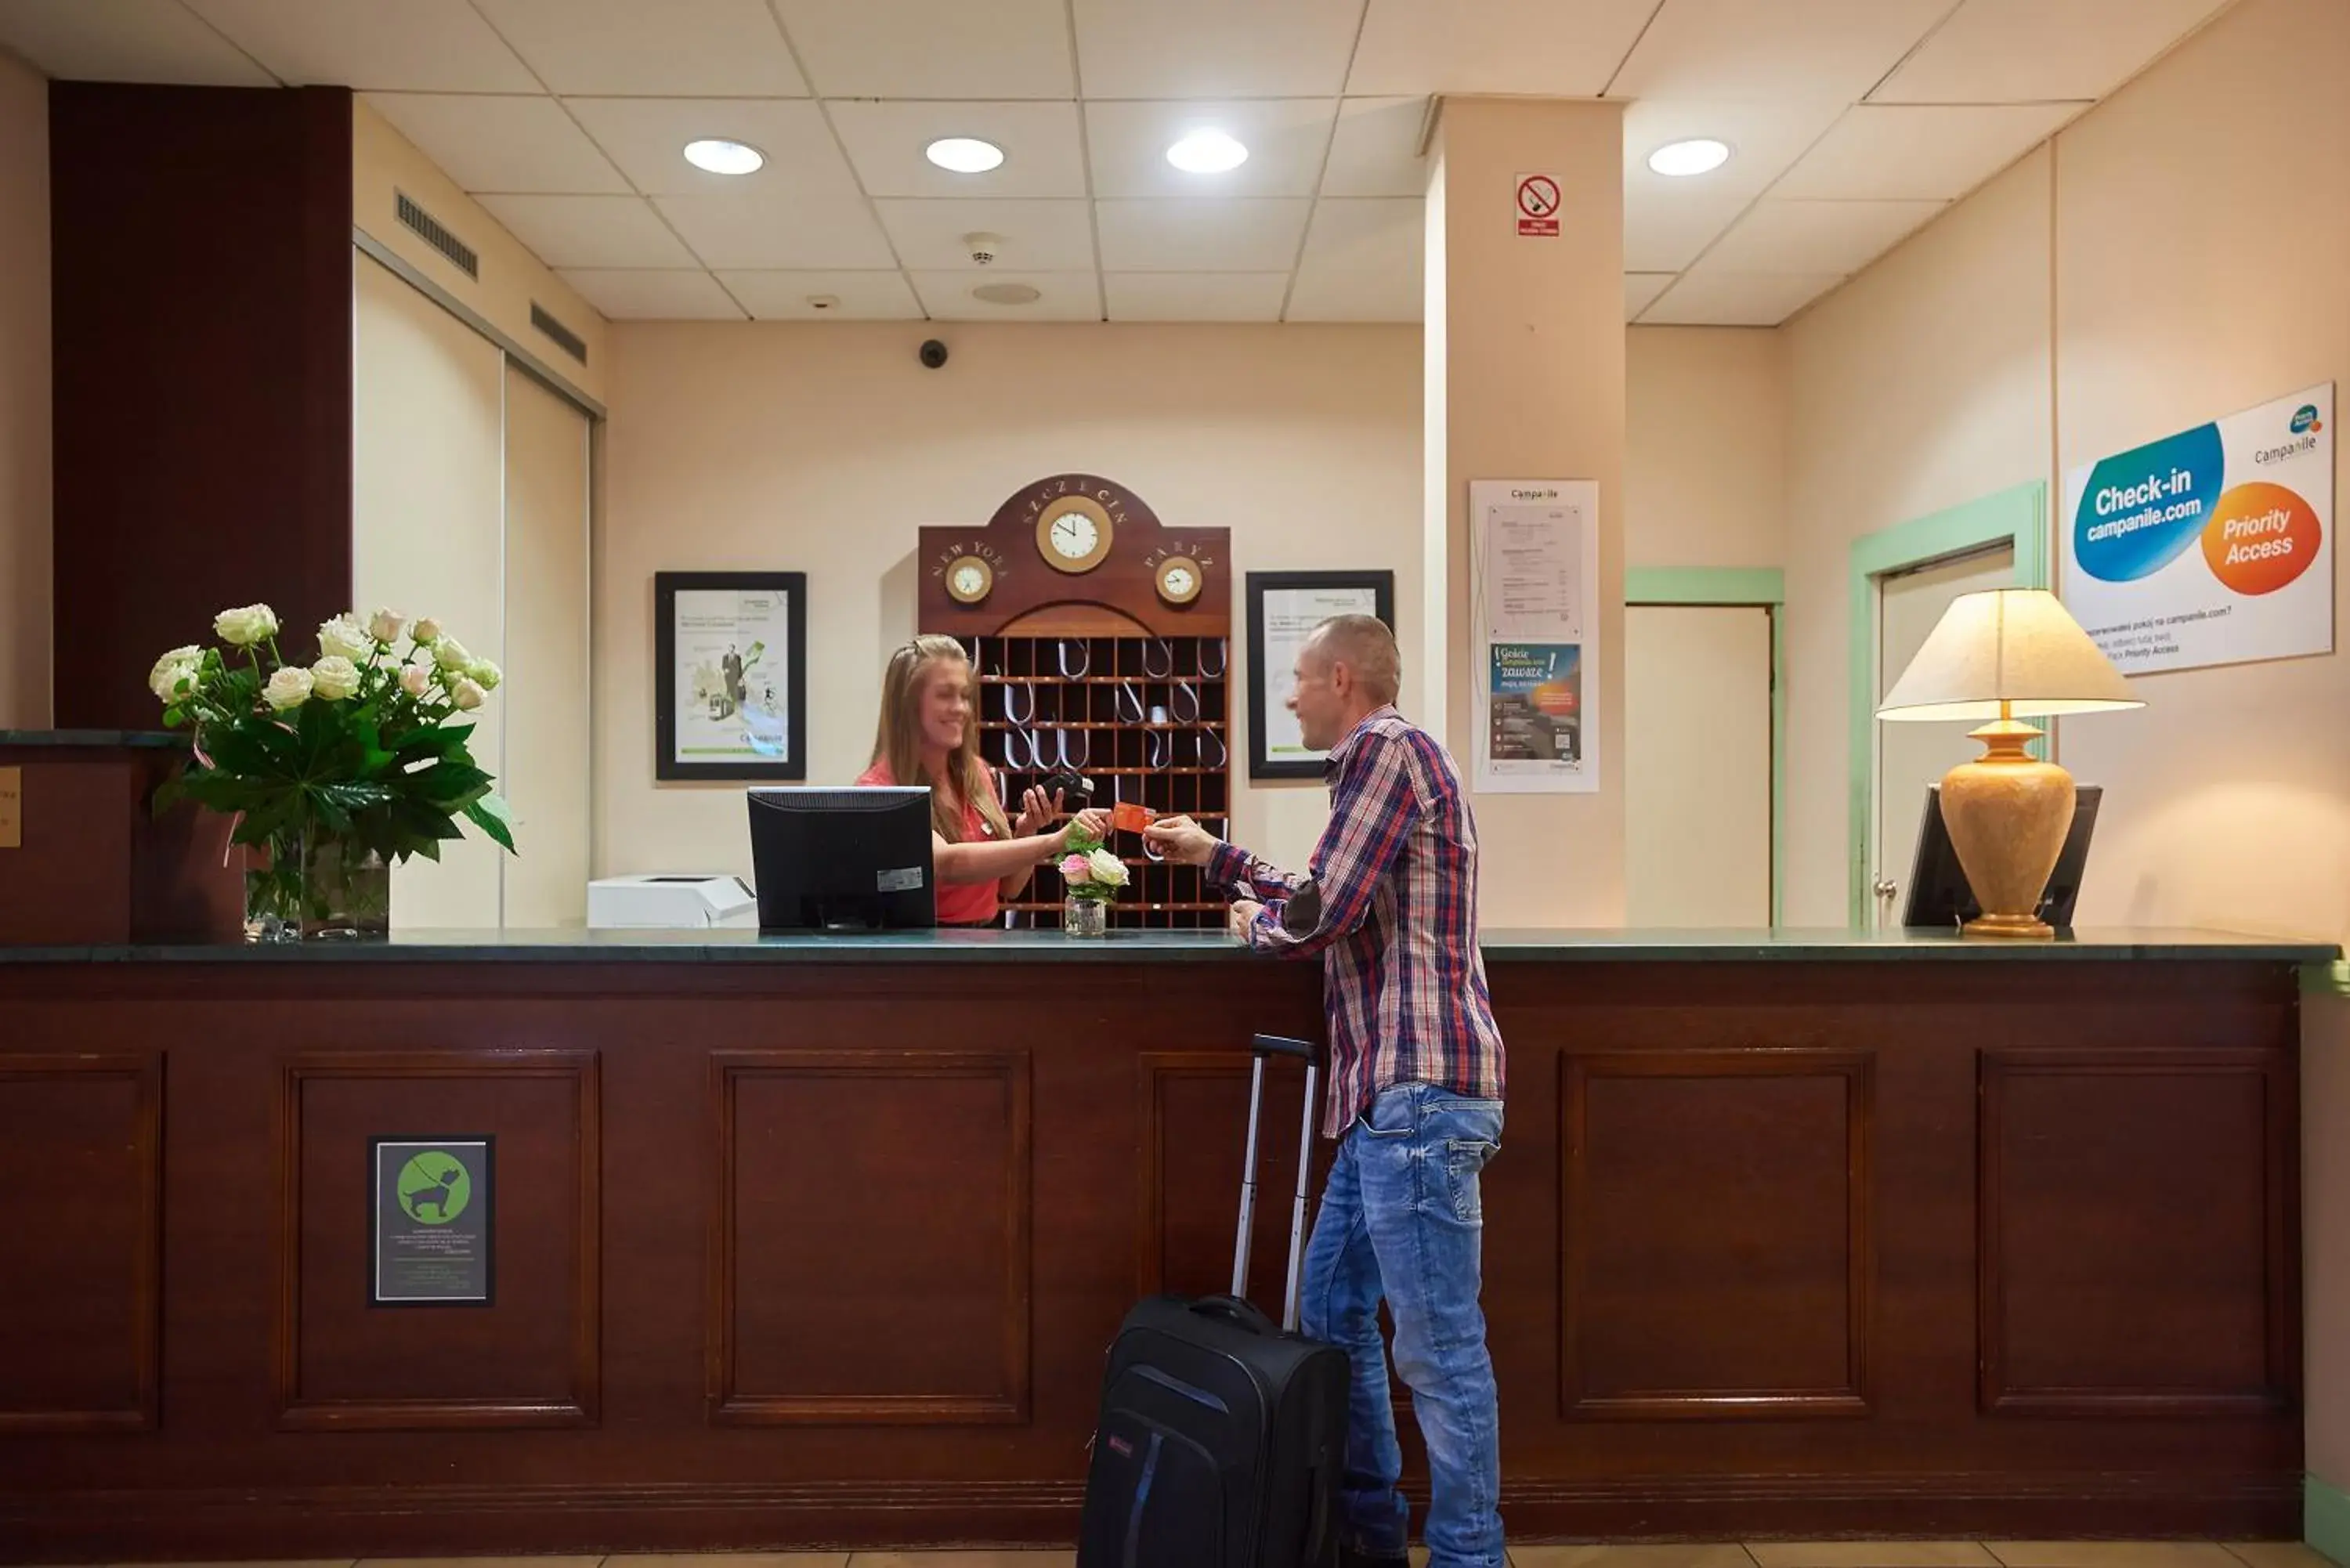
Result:
<instances>
[{"instance_id":1,"label":"small grey sign with green dog symbol on desk front","mask_svg":"<svg viewBox=\"0 0 2350 1568\"><path fill-rule=\"evenodd\" d=\"M374 1138L376 1307L479 1307L494 1286L491 1138Z\"/></svg>"}]
</instances>

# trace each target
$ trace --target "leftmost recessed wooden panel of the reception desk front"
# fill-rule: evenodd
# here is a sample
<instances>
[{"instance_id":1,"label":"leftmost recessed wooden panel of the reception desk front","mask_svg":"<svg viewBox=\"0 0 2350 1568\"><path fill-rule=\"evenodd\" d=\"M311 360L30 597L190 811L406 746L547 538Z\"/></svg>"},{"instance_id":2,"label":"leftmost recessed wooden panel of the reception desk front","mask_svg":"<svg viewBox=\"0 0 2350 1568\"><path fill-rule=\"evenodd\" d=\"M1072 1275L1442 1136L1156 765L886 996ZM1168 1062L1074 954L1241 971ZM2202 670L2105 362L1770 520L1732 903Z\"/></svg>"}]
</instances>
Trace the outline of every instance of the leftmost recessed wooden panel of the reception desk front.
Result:
<instances>
[{"instance_id":1,"label":"leftmost recessed wooden panel of the reception desk front","mask_svg":"<svg viewBox=\"0 0 2350 1568\"><path fill-rule=\"evenodd\" d=\"M0 1056L0 1436L157 1418L160 1056Z\"/></svg>"}]
</instances>

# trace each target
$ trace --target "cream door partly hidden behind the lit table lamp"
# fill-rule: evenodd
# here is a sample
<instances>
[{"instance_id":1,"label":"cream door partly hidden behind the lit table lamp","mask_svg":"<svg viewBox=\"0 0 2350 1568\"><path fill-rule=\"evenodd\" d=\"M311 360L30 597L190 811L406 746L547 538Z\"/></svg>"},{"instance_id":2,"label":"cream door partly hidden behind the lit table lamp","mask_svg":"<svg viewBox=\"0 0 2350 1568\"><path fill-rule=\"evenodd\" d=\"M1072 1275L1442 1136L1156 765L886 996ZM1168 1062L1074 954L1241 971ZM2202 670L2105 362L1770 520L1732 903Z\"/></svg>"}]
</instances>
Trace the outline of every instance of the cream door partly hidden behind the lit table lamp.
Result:
<instances>
[{"instance_id":1,"label":"cream door partly hidden behind the lit table lamp","mask_svg":"<svg viewBox=\"0 0 2350 1568\"><path fill-rule=\"evenodd\" d=\"M2016 585L2014 545L1995 545L1972 555L1896 571L1878 578L1878 698L1894 689L1908 661L1918 656L1950 599L1986 588ZM1967 738L1972 724L1887 724L1875 722L1875 809L1871 823L1871 886L1875 924L1899 926L1901 900L1908 896L1911 858L1918 853L1918 825L1925 818L1929 785L1960 762L1981 755Z\"/></svg>"}]
</instances>

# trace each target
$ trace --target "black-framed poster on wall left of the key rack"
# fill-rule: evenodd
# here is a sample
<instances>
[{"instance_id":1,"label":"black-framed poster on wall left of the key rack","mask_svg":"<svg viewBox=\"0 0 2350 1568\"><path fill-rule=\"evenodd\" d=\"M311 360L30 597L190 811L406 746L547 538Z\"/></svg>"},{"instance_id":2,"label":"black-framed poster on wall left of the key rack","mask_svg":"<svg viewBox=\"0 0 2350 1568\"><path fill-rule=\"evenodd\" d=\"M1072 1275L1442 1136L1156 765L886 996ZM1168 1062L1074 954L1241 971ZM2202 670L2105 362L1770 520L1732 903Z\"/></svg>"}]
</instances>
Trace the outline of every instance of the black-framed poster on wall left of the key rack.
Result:
<instances>
[{"instance_id":1,"label":"black-framed poster on wall left of the key rack","mask_svg":"<svg viewBox=\"0 0 2350 1568\"><path fill-rule=\"evenodd\" d=\"M808 776L808 576L653 574L653 778Z\"/></svg>"}]
</instances>

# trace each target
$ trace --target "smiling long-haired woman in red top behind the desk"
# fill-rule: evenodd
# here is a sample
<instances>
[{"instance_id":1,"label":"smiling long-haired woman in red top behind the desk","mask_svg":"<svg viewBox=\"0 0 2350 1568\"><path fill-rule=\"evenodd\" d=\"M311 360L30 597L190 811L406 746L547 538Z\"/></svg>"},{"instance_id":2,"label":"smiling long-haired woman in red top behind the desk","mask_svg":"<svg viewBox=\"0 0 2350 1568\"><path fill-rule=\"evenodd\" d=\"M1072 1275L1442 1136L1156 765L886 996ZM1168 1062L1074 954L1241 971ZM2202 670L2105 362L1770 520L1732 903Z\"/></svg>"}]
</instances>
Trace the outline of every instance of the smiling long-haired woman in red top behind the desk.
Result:
<instances>
[{"instance_id":1,"label":"smiling long-haired woman in red top behind the desk","mask_svg":"<svg viewBox=\"0 0 2350 1568\"><path fill-rule=\"evenodd\" d=\"M931 785L931 875L938 882L938 924L994 924L1003 898L1018 898L1039 865L1062 853L1069 827L1060 797L1029 790L1020 816L1006 820L1003 802L980 759L978 691L971 661L954 637L914 637L891 654L881 675L881 724L874 762L860 785ZM1107 811L1076 818L1109 837Z\"/></svg>"}]
</instances>

